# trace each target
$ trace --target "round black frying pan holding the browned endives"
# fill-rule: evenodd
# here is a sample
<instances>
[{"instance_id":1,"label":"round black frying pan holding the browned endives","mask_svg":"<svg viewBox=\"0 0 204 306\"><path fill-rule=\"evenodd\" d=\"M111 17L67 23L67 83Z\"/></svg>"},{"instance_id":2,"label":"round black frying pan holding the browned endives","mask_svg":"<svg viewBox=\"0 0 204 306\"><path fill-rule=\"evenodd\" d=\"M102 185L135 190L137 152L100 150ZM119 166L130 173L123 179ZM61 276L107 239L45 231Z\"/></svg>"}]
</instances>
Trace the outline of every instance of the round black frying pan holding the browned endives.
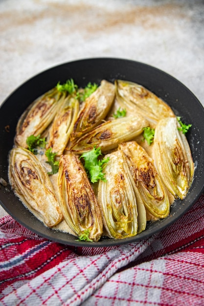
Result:
<instances>
[{"instance_id":1,"label":"round black frying pan holding the browned endives","mask_svg":"<svg viewBox=\"0 0 204 306\"><path fill-rule=\"evenodd\" d=\"M162 98L180 115L184 123L191 123L187 139L196 166L194 180L184 200L177 200L171 207L170 215L163 220L147 224L147 228L135 237L113 240L103 238L98 242L76 241L76 237L46 228L18 200L12 191L0 188L0 204L18 222L31 231L69 245L111 246L146 239L166 228L181 217L198 199L204 187L204 108L193 93L178 80L165 72L142 63L114 58L94 58L65 63L52 67L34 76L17 88L0 108L0 177L8 181L8 153L13 146L15 129L24 109L45 91L73 78L79 86L89 82L100 83L102 79L133 81L147 87ZM10 189L10 188L9 188Z\"/></svg>"}]
</instances>

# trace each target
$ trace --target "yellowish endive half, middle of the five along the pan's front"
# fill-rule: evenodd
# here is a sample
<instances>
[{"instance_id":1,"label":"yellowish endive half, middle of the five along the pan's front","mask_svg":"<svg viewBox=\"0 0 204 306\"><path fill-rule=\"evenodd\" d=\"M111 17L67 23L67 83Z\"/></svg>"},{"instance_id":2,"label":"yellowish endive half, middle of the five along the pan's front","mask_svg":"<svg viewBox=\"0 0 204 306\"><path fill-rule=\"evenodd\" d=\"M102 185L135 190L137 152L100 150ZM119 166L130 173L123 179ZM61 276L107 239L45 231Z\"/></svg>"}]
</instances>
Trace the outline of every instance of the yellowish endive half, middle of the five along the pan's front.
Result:
<instances>
[{"instance_id":1,"label":"yellowish endive half, middle of the five along the pan's front","mask_svg":"<svg viewBox=\"0 0 204 306\"><path fill-rule=\"evenodd\" d=\"M145 229L146 214L138 216L137 201L131 174L121 151L107 154L109 162L105 168L106 181L99 181L98 203L103 224L109 237L123 239L135 236ZM143 224L142 224L143 223Z\"/></svg>"}]
</instances>

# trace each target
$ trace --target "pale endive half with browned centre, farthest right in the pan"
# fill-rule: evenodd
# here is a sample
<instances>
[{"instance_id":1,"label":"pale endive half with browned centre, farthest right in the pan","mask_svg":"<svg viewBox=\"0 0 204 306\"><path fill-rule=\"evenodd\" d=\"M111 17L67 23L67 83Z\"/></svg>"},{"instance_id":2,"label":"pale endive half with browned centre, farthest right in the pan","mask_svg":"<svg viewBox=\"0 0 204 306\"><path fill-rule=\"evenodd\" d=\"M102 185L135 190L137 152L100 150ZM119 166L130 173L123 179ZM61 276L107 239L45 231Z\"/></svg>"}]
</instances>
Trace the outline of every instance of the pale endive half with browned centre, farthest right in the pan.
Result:
<instances>
[{"instance_id":1,"label":"pale endive half with browned centre, farthest right in the pan","mask_svg":"<svg viewBox=\"0 0 204 306\"><path fill-rule=\"evenodd\" d=\"M190 188L194 164L177 118L161 119L155 130L153 154L163 183L176 198L183 199Z\"/></svg>"}]
</instances>

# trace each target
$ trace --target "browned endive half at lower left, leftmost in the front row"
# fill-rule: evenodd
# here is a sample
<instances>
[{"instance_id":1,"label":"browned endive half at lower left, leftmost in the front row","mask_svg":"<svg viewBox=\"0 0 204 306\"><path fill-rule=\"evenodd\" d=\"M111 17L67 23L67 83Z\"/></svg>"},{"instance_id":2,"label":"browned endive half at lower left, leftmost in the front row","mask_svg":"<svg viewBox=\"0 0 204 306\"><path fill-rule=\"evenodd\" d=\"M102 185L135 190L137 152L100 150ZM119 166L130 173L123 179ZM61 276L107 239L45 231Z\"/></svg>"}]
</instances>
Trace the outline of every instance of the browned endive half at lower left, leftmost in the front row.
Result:
<instances>
[{"instance_id":1,"label":"browned endive half at lower left, leftmost in the front row","mask_svg":"<svg viewBox=\"0 0 204 306\"><path fill-rule=\"evenodd\" d=\"M27 149L13 148L9 156L9 181L24 206L46 226L63 219L51 181L38 158Z\"/></svg>"}]
</instances>

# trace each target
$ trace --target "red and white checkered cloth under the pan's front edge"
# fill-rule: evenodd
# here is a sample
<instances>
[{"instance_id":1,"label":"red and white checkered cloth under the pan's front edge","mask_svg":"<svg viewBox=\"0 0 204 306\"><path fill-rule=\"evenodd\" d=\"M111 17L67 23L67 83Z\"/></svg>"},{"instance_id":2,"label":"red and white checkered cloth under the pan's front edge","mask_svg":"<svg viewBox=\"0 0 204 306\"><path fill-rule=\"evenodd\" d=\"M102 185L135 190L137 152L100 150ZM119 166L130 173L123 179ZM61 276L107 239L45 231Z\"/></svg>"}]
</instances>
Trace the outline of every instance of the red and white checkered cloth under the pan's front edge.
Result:
<instances>
[{"instance_id":1,"label":"red and white checkered cloth under the pan's front edge","mask_svg":"<svg viewBox=\"0 0 204 306\"><path fill-rule=\"evenodd\" d=\"M169 228L108 248L46 240L0 219L2 306L204 306L204 195Z\"/></svg>"}]
</instances>

